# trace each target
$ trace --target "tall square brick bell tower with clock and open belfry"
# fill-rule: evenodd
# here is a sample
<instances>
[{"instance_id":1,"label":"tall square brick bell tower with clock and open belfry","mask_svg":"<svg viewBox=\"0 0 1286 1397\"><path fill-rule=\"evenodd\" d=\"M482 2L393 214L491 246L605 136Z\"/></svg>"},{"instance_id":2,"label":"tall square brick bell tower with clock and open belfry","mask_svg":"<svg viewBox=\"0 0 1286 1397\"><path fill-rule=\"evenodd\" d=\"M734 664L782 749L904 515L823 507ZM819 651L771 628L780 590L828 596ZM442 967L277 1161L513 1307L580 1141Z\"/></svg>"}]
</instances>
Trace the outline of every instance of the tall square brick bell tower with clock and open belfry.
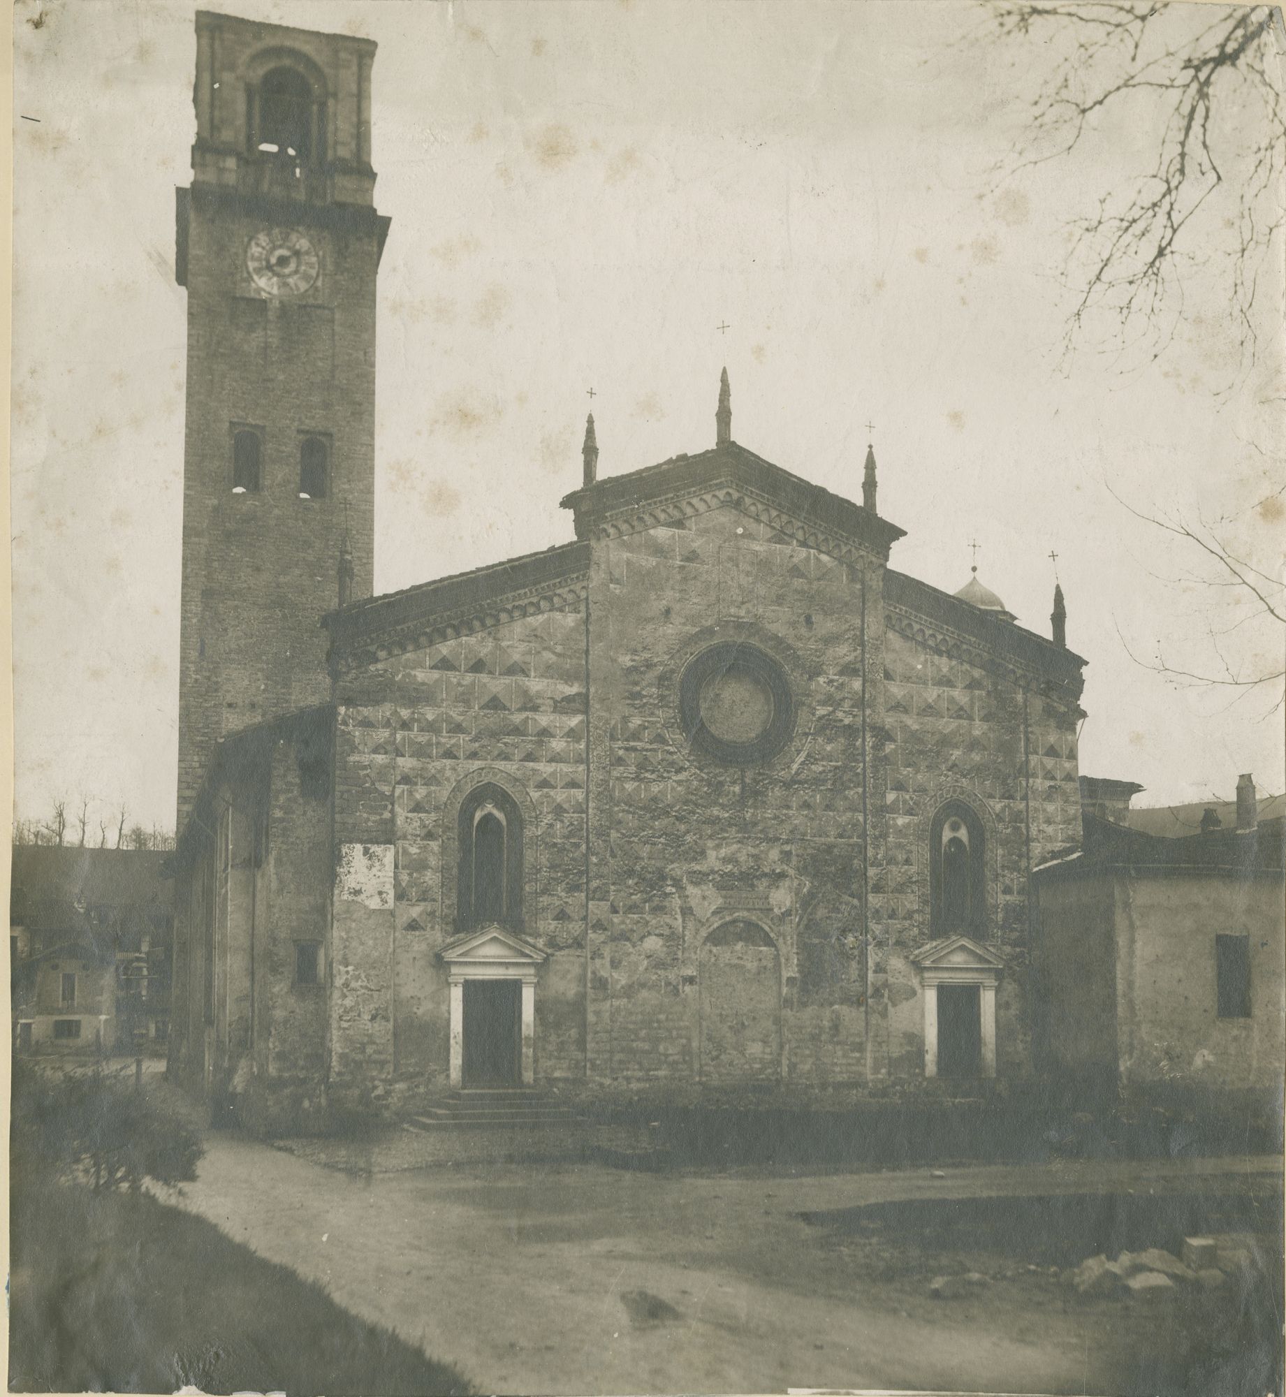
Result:
<instances>
[{"instance_id":1,"label":"tall square brick bell tower with clock and open belfry","mask_svg":"<svg viewBox=\"0 0 1286 1397\"><path fill-rule=\"evenodd\" d=\"M372 588L375 43L197 11L187 288L179 828L215 742L328 697L347 531Z\"/></svg>"}]
</instances>

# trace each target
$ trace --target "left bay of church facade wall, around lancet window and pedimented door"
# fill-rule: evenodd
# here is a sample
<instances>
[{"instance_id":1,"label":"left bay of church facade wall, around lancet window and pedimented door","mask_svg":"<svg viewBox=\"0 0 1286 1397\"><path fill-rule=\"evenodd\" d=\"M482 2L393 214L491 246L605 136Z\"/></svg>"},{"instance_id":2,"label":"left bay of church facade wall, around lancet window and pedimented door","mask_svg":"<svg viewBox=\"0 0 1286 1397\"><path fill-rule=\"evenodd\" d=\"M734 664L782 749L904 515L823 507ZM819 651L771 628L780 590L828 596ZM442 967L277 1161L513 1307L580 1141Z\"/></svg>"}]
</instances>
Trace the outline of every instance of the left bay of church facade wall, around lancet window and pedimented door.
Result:
<instances>
[{"instance_id":1,"label":"left bay of church facade wall, around lancet window and pedimented door","mask_svg":"<svg viewBox=\"0 0 1286 1397\"><path fill-rule=\"evenodd\" d=\"M389 1030L368 1032L380 1046L377 1055L363 1049L362 1066L348 1046L356 1020L337 1020L335 1077L377 1069L446 1084L447 982L438 951L458 929L458 809L484 782L502 785L523 813L519 930L549 956L535 997L537 1073L584 1074L584 624L583 608L570 604L341 678L341 868L345 858L366 866L387 859L389 879L379 887L337 880L335 1011L348 1013L345 996L369 993L362 1013L373 1023L369 1014L387 1010ZM349 977L344 986L341 974Z\"/></svg>"}]
</instances>

